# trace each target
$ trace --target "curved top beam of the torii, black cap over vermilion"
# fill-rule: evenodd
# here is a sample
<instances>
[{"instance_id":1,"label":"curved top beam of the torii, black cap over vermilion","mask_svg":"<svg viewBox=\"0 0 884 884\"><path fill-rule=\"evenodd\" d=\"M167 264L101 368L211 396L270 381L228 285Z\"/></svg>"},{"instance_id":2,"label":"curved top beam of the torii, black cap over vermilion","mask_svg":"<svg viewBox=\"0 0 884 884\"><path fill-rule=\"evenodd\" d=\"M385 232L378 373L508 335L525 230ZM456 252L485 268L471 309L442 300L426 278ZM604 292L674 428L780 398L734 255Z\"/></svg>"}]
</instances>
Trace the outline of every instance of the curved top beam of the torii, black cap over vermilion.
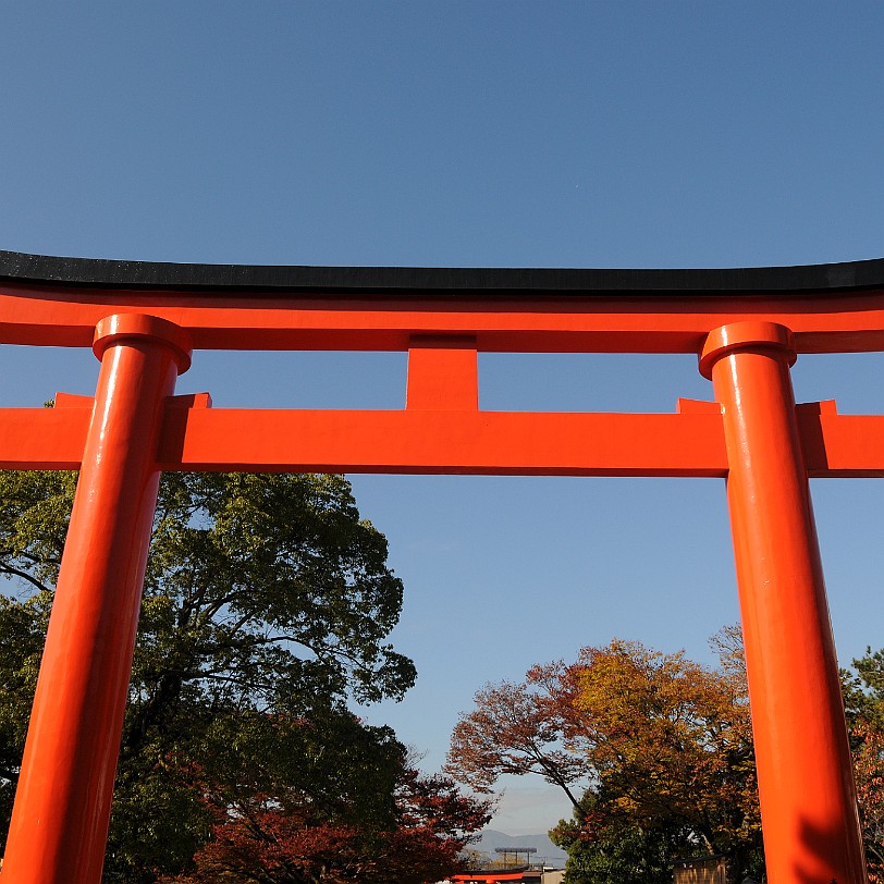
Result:
<instances>
[{"instance_id":1,"label":"curved top beam of the torii, black cap over vermilion","mask_svg":"<svg viewBox=\"0 0 884 884\"><path fill-rule=\"evenodd\" d=\"M146 311L197 349L698 353L734 321L777 322L801 353L884 349L884 259L693 270L260 267L0 251L0 342L89 346Z\"/></svg>"}]
</instances>

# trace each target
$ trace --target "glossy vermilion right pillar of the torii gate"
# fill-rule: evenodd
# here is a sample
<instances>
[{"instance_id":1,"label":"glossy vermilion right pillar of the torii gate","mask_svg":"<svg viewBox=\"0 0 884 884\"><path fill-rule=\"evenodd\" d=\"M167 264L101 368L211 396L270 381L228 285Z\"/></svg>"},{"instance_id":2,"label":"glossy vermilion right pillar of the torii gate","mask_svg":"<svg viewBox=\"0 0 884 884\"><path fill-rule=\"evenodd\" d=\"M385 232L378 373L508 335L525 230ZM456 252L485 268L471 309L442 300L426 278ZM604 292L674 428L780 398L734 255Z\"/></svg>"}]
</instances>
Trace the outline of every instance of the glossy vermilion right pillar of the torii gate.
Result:
<instances>
[{"instance_id":1,"label":"glossy vermilion right pillar of the torii gate","mask_svg":"<svg viewBox=\"0 0 884 884\"><path fill-rule=\"evenodd\" d=\"M856 788L795 417L791 332L713 331L700 357L722 405L768 877L865 884Z\"/></svg>"}]
</instances>

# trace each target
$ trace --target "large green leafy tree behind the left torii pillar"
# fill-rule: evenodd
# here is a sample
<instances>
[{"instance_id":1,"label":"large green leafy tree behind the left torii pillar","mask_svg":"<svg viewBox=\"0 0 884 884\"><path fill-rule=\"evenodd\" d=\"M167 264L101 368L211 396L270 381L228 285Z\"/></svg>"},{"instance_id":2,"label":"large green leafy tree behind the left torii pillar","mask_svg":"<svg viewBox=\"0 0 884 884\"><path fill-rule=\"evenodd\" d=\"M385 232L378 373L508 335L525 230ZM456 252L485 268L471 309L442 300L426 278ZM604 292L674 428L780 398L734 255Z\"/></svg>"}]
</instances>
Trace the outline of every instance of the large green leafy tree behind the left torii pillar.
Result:
<instances>
[{"instance_id":1,"label":"large green leafy tree behind the left torii pillar","mask_svg":"<svg viewBox=\"0 0 884 884\"><path fill-rule=\"evenodd\" d=\"M0 474L0 573L17 593L0 598L7 819L75 481ZM106 877L149 882L186 867L213 823L193 771L218 778L230 746L243 758L256 751L242 728L261 730L255 722L274 716L335 722L330 739L346 742L347 697L401 697L414 666L384 641L401 604L386 542L360 519L343 477L164 476ZM273 732L262 727L272 753ZM330 765L304 770L315 791L322 777L333 784Z\"/></svg>"}]
</instances>

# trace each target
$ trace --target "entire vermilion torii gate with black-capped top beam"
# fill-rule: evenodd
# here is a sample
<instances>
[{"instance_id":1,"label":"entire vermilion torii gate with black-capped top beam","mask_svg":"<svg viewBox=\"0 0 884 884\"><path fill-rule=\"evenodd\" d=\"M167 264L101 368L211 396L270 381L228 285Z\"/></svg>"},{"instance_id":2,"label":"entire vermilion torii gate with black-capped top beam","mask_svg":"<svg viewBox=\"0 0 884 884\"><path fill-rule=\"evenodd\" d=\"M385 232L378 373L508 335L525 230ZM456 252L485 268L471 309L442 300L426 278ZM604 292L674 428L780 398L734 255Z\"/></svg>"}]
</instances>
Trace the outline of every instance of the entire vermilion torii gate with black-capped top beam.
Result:
<instances>
[{"instance_id":1,"label":"entire vermilion torii gate with black-capped top beam","mask_svg":"<svg viewBox=\"0 0 884 884\"><path fill-rule=\"evenodd\" d=\"M796 407L798 353L884 349L884 260L748 270L229 267L0 253L0 342L91 346L95 398L0 408L0 468L81 469L2 884L97 884L161 470L727 479L768 874L864 884L808 477L884 416ZM402 410L212 409L193 349L407 351ZM696 353L675 414L478 409L477 352Z\"/></svg>"}]
</instances>

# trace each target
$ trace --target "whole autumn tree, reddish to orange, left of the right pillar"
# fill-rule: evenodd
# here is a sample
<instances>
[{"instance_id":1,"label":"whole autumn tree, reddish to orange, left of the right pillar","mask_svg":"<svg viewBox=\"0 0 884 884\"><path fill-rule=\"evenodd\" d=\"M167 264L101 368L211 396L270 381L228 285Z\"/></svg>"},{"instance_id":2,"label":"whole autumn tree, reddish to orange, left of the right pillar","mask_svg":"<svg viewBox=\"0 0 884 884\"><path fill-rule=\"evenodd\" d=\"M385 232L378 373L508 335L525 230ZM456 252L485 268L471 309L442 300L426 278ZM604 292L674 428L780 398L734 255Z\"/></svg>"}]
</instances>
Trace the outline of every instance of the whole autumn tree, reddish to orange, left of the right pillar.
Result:
<instances>
[{"instance_id":1,"label":"whole autumn tree, reddish to orange, left of the right pillar","mask_svg":"<svg viewBox=\"0 0 884 884\"><path fill-rule=\"evenodd\" d=\"M569 865L572 881L605 880L597 860L627 880L639 849L658 864L686 850L725 852L736 874L757 872L746 678L733 631L719 646L717 671L615 640L582 649L572 664L535 666L521 685L487 686L455 727L447 770L483 789L502 773L540 773L562 786L576 813L558 837L584 868ZM590 788L575 801L581 776Z\"/></svg>"}]
</instances>

